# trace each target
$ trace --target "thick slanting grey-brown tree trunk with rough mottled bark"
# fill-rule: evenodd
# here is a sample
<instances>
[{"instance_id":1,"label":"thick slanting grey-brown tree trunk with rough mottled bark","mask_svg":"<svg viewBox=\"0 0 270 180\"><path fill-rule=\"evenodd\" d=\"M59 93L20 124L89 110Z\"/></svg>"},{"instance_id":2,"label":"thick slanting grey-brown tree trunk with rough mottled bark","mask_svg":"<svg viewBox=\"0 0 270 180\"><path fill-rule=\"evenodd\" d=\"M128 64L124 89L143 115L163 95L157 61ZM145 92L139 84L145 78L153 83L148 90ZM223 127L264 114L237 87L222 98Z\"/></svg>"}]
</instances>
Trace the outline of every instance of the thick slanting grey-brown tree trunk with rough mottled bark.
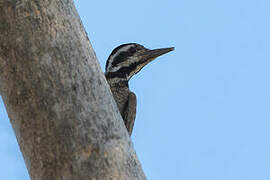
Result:
<instances>
[{"instance_id":1,"label":"thick slanting grey-brown tree trunk with rough mottled bark","mask_svg":"<svg viewBox=\"0 0 270 180\"><path fill-rule=\"evenodd\" d=\"M0 0L0 92L32 180L145 179L73 1Z\"/></svg>"}]
</instances>

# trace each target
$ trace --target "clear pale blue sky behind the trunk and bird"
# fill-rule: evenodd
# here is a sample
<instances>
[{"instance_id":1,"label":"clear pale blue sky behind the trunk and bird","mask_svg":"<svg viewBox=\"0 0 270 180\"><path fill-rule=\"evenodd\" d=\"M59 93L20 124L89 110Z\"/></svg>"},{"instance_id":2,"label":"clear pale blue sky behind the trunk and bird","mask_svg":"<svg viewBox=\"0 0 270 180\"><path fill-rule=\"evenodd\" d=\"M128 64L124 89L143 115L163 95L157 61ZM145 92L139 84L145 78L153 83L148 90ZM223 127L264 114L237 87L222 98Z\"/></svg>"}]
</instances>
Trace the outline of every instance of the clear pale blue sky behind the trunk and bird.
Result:
<instances>
[{"instance_id":1,"label":"clear pale blue sky behind the trunk and bird","mask_svg":"<svg viewBox=\"0 0 270 180\"><path fill-rule=\"evenodd\" d=\"M270 179L270 1L76 1L102 69L111 50L175 46L130 82L149 180ZM29 180L0 102L0 179Z\"/></svg>"}]
</instances>

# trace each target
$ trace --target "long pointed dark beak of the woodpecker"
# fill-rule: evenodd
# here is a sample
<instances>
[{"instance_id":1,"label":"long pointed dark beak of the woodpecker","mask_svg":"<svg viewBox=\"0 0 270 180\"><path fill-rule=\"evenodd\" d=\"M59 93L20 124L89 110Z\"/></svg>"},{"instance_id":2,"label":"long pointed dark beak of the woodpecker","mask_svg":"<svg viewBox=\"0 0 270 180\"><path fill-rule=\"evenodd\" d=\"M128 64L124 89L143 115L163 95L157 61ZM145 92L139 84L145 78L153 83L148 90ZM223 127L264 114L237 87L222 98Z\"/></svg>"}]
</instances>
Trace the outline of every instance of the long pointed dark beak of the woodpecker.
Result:
<instances>
[{"instance_id":1,"label":"long pointed dark beak of the woodpecker","mask_svg":"<svg viewBox=\"0 0 270 180\"><path fill-rule=\"evenodd\" d=\"M152 60L156 59L158 56L161 56L173 50L174 50L174 47L148 50L142 54L142 59L144 60L146 64L148 64Z\"/></svg>"}]
</instances>

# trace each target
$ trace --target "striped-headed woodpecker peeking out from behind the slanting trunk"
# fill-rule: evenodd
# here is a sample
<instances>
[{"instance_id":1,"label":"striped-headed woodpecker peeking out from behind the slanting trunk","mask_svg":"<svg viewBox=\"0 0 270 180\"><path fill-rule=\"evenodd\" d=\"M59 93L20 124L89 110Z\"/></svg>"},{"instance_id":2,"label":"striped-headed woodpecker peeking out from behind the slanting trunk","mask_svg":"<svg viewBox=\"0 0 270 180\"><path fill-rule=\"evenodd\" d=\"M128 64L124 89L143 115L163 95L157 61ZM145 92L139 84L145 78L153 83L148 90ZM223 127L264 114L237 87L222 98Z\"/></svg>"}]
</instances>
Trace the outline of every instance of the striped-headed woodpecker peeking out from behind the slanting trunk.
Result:
<instances>
[{"instance_id":1,"label":"striped-headed woodpecker peeking out from behind the slanting trunk","mask_svg":"<svg viewBox=\"0 0 270 180\"><path fill-rule=\"evenodd\" d=\"M128 82L158 56L173 50L174 47L151 50L137 43L127 43L116 47L109 55L105 77L130 136L136 117L137 98L129 89Z\"/></svg>"}]
</instances>

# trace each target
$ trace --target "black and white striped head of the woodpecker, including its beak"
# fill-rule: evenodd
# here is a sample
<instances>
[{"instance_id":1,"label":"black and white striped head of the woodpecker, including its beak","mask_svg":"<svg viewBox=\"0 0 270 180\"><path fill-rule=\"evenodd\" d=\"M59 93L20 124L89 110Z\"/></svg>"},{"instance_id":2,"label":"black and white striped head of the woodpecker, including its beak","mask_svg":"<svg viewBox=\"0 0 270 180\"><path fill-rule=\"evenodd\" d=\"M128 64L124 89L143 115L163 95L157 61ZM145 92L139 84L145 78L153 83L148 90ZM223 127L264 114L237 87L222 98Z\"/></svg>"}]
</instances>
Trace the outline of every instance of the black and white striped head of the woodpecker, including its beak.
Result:
<instances>
[{"instance_id":1,"label":"black and white striped head of the woodpecker, including its beak","mask_svg":"<svg viewBox=\"0 0 270 180\"><path fill-rule=\"evenodd\" d=\"M150 50L136 43L122 44L115 48L106 62L106 78L129 80L146 64L174 48Z\"/></svg>"}]
</instances>

